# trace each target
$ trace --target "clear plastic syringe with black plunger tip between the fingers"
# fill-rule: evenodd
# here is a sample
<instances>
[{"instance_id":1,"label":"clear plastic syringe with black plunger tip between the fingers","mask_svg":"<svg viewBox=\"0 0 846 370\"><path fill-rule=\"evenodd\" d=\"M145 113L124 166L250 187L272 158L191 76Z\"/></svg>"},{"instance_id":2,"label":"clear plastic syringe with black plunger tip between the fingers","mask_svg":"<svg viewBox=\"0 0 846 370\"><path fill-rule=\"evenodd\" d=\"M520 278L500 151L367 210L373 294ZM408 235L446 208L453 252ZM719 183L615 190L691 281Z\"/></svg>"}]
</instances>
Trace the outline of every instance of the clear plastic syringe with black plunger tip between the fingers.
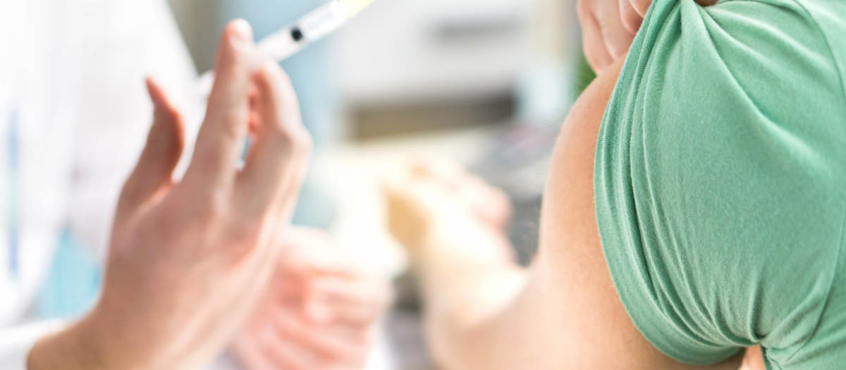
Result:
<instances>
[{"instance_id":1,"label":"clear plastic syringe with black plunger tip between the fingers","mask_svg":"<svg viewBox=\"0 0 846 370\"><path fill-rule=\"evenodd\" d=\"M305 49L311 42L318 41L338 30L355 14L370 5L373 0L333 0L316 8L296 23L278 30L256 44L261 57L282 62ZM197 82L201 96L208 96L214 84L214 73L203 73Z\"/></svg>"}]
</instances>

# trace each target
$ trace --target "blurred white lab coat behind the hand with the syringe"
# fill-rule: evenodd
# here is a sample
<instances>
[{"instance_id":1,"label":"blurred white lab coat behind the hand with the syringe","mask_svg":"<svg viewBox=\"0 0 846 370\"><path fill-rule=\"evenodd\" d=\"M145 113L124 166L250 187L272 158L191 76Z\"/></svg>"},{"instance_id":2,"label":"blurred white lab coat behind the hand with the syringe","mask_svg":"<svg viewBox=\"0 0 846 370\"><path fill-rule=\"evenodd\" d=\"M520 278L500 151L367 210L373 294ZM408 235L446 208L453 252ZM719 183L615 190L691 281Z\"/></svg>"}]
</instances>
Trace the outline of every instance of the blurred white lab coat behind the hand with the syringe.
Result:
<instances>
[{"instance_id":1,"label":"blurred white lab coat behind the hand with the syringe","mask_svg":"<svg viewBox=\"0 0 846 370\"><path fill-rule=\"evenodd\" d=\"M25 323L63 228L105 250L151 123L148 74L195 117L197 73L164 0L0 1L0 369L25 370L32 343L61 328Z\"/></svg>"}]
</instances>

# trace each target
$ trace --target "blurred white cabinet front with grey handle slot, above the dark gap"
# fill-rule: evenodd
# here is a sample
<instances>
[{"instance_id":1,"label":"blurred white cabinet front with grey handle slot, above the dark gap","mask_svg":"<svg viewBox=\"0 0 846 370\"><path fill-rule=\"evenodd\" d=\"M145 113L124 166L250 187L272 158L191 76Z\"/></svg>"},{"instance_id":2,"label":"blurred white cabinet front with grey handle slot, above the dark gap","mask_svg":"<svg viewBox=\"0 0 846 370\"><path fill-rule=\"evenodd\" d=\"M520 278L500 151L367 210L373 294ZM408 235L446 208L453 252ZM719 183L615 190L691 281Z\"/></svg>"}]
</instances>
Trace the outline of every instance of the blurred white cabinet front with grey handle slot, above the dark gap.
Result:
<instances>
[{"instance_id":1,"label":"blurred white cabinet front with grey handle slot, above the dark gap","mask_svg":"<svg viewBox=\"0 0 846 370\"><path fill-rule=\"evenodd\" d=\"M338 36L353 103L508 93L527 30L524 0L376 0Z\"/></svg>"}]
</instances>

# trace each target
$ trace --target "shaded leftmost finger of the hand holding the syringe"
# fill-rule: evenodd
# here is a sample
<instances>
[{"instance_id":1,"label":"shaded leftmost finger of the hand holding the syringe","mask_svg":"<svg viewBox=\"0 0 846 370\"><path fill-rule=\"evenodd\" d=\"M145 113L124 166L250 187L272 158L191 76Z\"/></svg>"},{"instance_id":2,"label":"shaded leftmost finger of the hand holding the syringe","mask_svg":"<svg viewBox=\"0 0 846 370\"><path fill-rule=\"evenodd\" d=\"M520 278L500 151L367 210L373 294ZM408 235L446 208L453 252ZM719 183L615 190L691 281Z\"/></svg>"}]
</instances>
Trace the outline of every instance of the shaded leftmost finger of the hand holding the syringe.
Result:
<instances>
[{"instance_id":1,"label":"shaded leftmost finger of the hand holding the syringe","mask_svg":"<svg viewBox=\"0 0 846 370\"><path fill-rule=\"evenodd\" d=\"M135 170L124 184L118 218L144 204L171 185L173 169L184 148L184 118L162 86L147 78L147 91L154 106L153 124Z\"/></svg>"}]
</instances>

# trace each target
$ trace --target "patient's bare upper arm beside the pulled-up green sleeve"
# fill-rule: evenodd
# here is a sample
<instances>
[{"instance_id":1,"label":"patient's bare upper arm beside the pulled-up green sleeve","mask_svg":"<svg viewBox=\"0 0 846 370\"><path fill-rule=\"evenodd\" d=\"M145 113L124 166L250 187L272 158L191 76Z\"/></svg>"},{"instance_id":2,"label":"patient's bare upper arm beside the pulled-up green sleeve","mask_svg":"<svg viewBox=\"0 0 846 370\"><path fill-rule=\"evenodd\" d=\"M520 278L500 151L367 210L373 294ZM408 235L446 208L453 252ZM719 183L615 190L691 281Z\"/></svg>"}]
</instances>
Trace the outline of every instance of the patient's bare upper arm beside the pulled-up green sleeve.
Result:
<instances>
[{"instance_id":1,"label":"patient's bare upper arm beside the pulled-up green sleeve","mask_svg":"<svg viewBox=\"0 0 846 370\"><path fill-rule=\"evenodd\" d=\"M541 214L540 251L523 291L474 336L486 369L685 369L651 346L626 313L608 271L593 196L596 138L623 60L581 95L552 158ZM492 340L497 338L497 340ZM470 365L470 364L467 364ZM483 366L483 367L481 367Z\"/></svg>"}]
</instances>

